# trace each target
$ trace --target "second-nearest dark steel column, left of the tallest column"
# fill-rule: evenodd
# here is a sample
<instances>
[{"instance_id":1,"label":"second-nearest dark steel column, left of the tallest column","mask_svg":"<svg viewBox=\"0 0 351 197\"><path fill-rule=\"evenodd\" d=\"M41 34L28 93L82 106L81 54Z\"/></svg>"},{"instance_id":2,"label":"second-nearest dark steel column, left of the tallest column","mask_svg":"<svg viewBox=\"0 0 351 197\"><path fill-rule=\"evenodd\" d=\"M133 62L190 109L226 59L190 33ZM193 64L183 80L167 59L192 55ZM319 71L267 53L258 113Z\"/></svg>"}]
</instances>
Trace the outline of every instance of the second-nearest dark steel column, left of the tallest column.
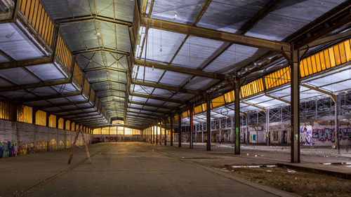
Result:
<instances>
[{"instance_id":1,"label":"second-nearest dark steel column, left of the tallest column","mask_svg":"<svg viewBox=\"0 0 351 197\"><path fill-rule=\"evenodd\" d=\"M240 81L234 83L234 154L240 154Z\"/></svg>"}]
</instances>

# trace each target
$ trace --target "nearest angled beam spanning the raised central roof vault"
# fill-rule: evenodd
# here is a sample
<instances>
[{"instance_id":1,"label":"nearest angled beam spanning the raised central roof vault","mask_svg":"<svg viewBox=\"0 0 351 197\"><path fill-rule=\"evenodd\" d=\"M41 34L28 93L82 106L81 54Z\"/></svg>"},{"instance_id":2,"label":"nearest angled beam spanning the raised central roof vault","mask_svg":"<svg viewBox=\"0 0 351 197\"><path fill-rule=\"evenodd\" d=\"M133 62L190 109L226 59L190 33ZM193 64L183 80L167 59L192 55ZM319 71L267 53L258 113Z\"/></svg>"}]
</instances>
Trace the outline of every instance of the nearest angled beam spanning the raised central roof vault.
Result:
<instances>
[{"instance_id":1,"label":"nearest angled beam spanning the raised central roof vault","mask_svg":"<svg viewBox=\"0 0 351 197\"><path fill-rule=\"evenodd\" d=\"M64 18L64 19L55 20L55 23L58 25L65 25L65 24L69 24L69 23L86 22L86 21L91 21L91 20L100 21L100 22L107 22L107 23L111 23L113 25L132 27L131 22L127 22L124 20L117 20L117 19L103 17L103 16L98 16L98 15L86 15L86 16L79 16L79 17L75 17L75 18Z\"/></svg>"}]
</instances>

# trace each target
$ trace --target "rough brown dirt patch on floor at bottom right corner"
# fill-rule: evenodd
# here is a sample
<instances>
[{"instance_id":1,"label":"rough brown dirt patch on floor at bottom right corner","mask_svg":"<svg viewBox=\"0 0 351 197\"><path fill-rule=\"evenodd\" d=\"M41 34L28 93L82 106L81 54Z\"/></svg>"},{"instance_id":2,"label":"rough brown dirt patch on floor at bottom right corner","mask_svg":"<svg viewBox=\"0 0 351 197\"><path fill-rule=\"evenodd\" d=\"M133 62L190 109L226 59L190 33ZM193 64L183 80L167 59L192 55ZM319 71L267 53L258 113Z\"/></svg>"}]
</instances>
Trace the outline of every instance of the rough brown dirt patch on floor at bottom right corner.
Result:
<instances>
[{"instance_id":1,"label":"rough brown dirt patch on floor at bottom right corner","mask_svg":"<svg viewBox=\"0 0 351 197\"><path fill-rule=\"evenodd\" d=\"M221 166L228 172L251 182L296 193L300 196L350 196L351 180L329 175L293 170L287 168L232 168Z\"/></svg>"}]
</instances>

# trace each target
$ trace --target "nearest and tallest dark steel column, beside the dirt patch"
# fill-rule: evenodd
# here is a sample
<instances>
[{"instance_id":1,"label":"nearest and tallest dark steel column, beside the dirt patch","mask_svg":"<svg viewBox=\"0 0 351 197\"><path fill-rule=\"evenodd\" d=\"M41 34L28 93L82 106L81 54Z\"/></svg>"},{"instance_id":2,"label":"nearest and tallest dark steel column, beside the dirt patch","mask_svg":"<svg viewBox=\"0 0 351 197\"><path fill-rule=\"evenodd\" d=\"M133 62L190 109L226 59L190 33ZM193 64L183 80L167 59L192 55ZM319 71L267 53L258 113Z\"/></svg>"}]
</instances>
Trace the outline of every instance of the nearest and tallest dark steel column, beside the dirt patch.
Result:
<instances>
[{"instance_id":1,"label":"nearest and tallest dark steel column, beside the dirt patch","mask_svg":"<svg viewBox=\"0 0 351 197\"><path fill-rule=\"evenodd\" d=\"M291 60L291 163L300 163L300 66L298 50L292 50Z\"/></svg>"}]
</instances>

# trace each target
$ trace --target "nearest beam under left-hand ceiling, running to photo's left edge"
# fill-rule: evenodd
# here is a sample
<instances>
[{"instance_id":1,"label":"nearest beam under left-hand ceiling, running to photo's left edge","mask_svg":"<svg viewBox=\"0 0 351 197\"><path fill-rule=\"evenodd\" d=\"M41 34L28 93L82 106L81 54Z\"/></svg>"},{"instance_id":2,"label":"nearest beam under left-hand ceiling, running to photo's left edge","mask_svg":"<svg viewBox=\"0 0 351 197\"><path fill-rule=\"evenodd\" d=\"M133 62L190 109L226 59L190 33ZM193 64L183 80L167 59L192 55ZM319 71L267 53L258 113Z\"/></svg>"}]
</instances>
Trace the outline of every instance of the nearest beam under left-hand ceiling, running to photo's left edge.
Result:
<instances>
[{"instance_id":1,"label":"nearest beam under left-hand ceiling, running to photo's left edge","mask_svg":"<svg viewBox=\"0 0 351 197\"><path fill-rule=\"evenodd\" d=\"M15 62L2 62L0 63L0 69L13 69L30 67L39 64L50 64L53 63L53 57L40 57L32 60L20 60Z\"/></svg>"}]
</instances>

